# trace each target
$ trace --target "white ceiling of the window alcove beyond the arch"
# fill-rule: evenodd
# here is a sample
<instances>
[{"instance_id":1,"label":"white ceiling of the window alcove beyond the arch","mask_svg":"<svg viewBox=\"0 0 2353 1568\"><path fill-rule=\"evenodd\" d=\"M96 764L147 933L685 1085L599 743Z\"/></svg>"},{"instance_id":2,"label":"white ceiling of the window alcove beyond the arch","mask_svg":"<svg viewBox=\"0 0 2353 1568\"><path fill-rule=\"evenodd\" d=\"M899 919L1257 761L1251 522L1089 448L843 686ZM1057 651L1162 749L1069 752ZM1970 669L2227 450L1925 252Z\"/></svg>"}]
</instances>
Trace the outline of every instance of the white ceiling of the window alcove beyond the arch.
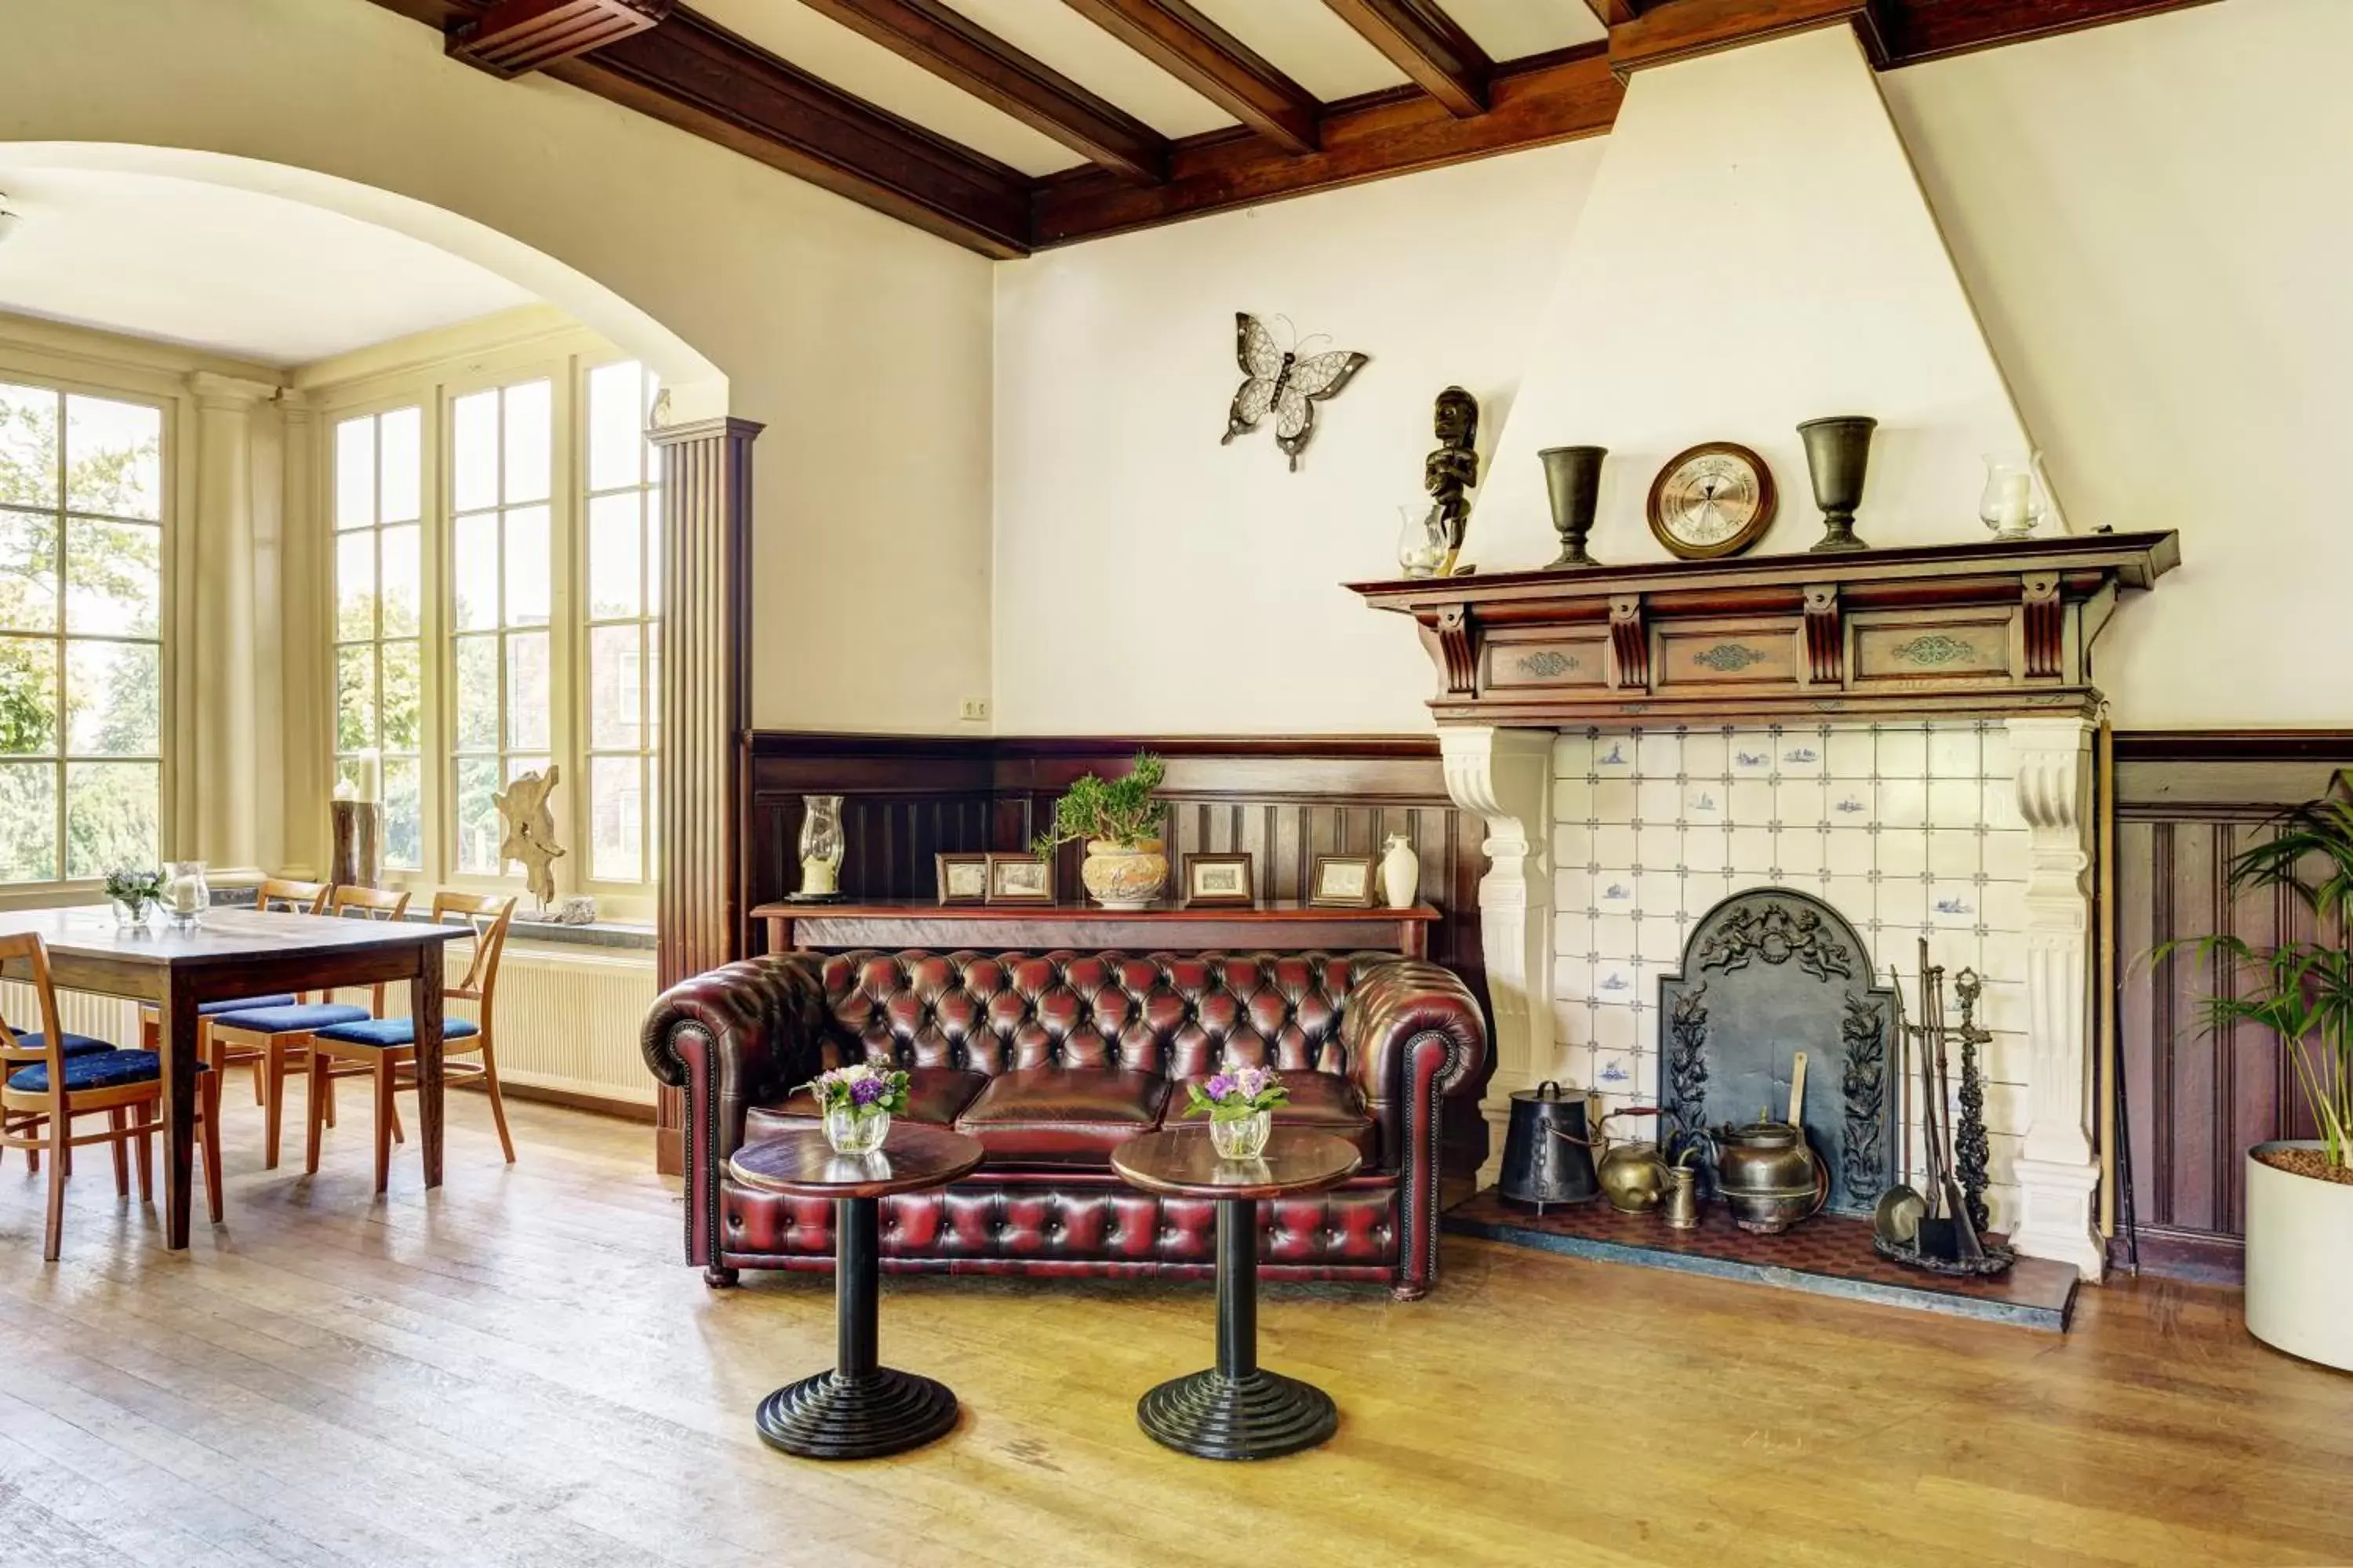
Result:
<instances>
[{"instance_id":1,"label":"white ceiling of the window alcove beyond the arch","mask_svg":"<svg viewBox=\"0 0 2353 1568\"><path fill-rule=\"evenodd\" d=\"M0 310L308 364L534 301L449 252L259 190L12 167Z\"/></svg>"}]
</instances>

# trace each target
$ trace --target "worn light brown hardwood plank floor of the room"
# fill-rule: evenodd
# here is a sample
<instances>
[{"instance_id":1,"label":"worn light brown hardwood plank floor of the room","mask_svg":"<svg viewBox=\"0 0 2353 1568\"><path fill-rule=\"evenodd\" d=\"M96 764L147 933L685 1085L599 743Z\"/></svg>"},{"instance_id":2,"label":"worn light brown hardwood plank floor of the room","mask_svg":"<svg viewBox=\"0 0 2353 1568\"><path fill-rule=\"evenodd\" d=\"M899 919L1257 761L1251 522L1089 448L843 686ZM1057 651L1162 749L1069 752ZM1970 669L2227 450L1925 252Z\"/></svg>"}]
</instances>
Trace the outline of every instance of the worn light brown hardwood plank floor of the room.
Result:
<instances>
[{"instance_id":1,"label":"worn light brown hardwood plank floor of the room","mask_svg":"<svg viewBox=\"0 0 2353 1568\"><path fill-rule=\"evenodd\" d=\"M71 1563L2346 1563L2353 1378L2235 1295L2087 1291L2047 1338L1447 1239L1426 1302L1268 1286L1261 1356L1322 1450L1165 1453L1209 1286L885 1279L882 1356L965 1401L927 1450L824 1467L753 1403L833 1356L824 1279L711 1295L647 1128L452 1095L369 1197L365 1117L261 1171L231 1084L228 1225L160 1246L87 1159L66 1255L0 1166L0 1561ZM748 1276L751 1279L751 1276Z\"/></svg>"}]
</instances>

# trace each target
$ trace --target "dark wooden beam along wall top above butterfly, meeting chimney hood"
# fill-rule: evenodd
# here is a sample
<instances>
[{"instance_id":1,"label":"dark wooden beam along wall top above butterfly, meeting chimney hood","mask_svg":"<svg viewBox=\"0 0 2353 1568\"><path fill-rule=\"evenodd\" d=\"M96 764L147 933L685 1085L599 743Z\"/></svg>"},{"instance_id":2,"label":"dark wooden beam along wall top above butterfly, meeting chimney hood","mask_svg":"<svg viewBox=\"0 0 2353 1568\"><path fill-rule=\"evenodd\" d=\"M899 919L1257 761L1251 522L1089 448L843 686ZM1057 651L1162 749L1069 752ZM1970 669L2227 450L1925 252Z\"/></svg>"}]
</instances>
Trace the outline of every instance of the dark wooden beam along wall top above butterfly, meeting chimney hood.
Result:
<instances>
[{"instance_id":1,"label":"dark wooden beam along wall top above butterfly, meeting chimney hood","mask_svg":"<svg viewBox=\"0 0 2353 1568\"><path fill-rule=\"evenodd\" d=\"M1322 146L1289 155L1264 136L1212 132L1169 148L1169 183L1139 190L1099 172L1038 181L1031 242L1040 249L1136 228L1158 228L1233 207L1257 207L1311 190L1355 186L1414 169L1600 136L1617 120L1624 87L1602 45L1497 66L1487 113L1459 120L1414 87L1332 103Z\"/></svg>"}]
</instances>

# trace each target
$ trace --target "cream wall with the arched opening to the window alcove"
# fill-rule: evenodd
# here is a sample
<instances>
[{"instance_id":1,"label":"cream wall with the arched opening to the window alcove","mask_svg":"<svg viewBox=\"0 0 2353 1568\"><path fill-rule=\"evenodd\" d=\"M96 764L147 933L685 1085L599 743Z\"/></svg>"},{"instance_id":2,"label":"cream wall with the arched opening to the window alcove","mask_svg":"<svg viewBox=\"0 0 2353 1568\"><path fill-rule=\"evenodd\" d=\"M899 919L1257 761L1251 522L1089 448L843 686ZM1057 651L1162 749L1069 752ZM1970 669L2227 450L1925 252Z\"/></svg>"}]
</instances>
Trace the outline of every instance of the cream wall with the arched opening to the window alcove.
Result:
<instances>
[{"instance_id":1,"label":"cream wall with the arched opening to the window alcove","mask_svg":"<svg viewBox=\"0 0 2353 1568\"><path fill-rule=\"evenodd\" d=\"M593 277L767 425L755 722L946 731L986 691L981 256L560 82L454 66L360 0L5 5L7 141L228 153L426 202L536 249L527 282L635 350L628 310L562 294L567 268Z\"/></svg>"}]
</instances>

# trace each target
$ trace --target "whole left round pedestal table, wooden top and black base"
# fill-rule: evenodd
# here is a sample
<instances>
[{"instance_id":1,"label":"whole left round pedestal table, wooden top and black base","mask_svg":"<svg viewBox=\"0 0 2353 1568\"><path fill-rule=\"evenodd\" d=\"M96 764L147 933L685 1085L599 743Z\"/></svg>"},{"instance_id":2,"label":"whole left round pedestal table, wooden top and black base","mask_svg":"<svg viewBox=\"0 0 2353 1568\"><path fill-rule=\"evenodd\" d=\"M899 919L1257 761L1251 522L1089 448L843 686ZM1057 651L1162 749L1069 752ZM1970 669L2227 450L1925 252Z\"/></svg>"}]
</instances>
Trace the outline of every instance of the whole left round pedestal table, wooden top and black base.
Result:
<instances>
[{"instance_id":1,"label":"whole left round pedestal table, wooden top and black base","mask_svg":"<svg viewBox=\"0 0 2353 1568\"><path fill-rule=\"evenodd\" d=\"M894 1121L873 1154L835 1154L824 1131L795 1131L736 1150L729 1171L746 1187L833 1199L833 1371L791 1382L760 1401L760 1436L807 1460L873 1460L920 1448L955 1427L944 1382L875 1359L880 1295L878 1199L969 1175L981 1145L936 1126Z\"/></svg>"}]
</instances>

